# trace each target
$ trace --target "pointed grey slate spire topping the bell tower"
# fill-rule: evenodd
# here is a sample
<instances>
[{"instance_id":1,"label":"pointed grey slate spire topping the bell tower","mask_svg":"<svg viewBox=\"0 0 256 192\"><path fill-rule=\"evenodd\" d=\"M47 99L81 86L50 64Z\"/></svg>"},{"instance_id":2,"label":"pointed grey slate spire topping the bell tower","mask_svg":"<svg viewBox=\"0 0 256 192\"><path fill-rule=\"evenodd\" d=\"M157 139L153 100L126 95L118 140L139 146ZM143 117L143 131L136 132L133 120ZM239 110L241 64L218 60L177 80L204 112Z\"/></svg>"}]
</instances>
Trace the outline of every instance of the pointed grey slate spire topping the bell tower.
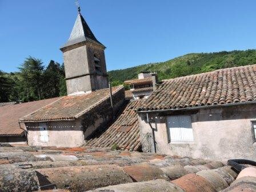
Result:
<instances>
[{"instance_id":1,"label":"pointed grey slate spire topping the bell tower","mask_svg":"<svg viewBox=\"0 0 256 192\"><path fill-rule=\"evenodd\" d=\"M91 42L106 48L101 42L97 40L97 38L94 36L93 32L91 31L90 27L87 25L85 19L81 14L81 8L78 3L77 3L77 6L78 6L78 15L77 15L77 19L75 20L73 30L70 34L69 39L67 40L65 45L61 47L61 49L63 49L64 47L68 47L68 46L75 45L77 43L81 43L85 41Z\"/></svg>"}]
</instances>

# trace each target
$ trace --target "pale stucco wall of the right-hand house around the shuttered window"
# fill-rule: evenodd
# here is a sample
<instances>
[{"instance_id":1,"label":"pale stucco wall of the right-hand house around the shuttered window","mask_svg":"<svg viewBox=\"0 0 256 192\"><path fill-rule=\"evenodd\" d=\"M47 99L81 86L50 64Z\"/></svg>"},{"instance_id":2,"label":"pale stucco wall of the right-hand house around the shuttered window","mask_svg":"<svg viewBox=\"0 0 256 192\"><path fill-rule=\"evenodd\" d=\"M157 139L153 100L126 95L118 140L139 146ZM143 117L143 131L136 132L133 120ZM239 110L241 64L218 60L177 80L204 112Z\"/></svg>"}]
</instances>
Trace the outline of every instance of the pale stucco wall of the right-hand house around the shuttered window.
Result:
<instances>
[{"instance_id":1,"label":"pale stucco wall of the right-hand house around the shuttered window","mask_svg":"<svg viewBox=\"0 0 256 192\"><path fill-rule=\"evenodd\" d=\"M219 160L256 159L256 143L251 125L251 121L256 121L256 105L201 109L179 112L178 115L182 114L191 116L194 142L169 143L166 117L177 114L150 114L151 123L147 123L146 114L139 114L141 139L150 141L142 143L143 150L154 152L154 130L158 153Z\"/></svg>"}]
</instances>

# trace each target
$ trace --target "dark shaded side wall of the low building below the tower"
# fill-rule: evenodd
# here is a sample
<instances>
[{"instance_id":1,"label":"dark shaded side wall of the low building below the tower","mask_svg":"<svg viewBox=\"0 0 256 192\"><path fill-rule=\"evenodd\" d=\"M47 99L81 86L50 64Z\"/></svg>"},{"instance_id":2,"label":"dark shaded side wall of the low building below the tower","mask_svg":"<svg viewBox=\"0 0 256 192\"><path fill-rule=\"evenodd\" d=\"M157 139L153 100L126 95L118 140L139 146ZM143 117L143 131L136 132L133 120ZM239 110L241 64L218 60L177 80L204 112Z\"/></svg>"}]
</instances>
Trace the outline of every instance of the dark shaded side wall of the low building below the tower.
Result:
<instances>
[{"instance_id":1,"label":"dark shaded side wall of the low building below the tower","mask_svg":"<svg viewBox=\"0 0 256 192\"><path fill-rule=\"evenodd\" d=\"M124 89L113 95L113 110L111 109L110 99L107 99L86 113L82 117L85 138L89 137L95 130L103 129L109 125L113 115L117 114L123 102L125 102Z\"/></svg>"}]
</instances>

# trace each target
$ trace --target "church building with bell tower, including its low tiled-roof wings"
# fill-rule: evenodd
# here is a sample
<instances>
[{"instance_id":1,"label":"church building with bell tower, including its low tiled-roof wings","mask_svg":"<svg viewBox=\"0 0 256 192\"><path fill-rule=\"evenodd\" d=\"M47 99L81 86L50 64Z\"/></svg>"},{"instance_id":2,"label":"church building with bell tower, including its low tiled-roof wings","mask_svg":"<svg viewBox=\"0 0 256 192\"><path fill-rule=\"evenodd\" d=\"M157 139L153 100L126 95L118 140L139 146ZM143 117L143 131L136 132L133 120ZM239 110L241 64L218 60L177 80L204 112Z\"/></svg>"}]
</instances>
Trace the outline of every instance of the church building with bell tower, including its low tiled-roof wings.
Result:
<instances>
[{"instance_id":1,"label":"church building with bell tower, including its low tiled-roof wings","mask_svg":"<svg viewBox=\"0 0 256 192\"><path fill-rule=\"evenodd\" d=\"M95 38L80 10L61 50L68 95L1 107L0 142L81 146L94 131L113 121L125 91L123 86L109 88L105 46Z\"/></svg>"}]
</instances>

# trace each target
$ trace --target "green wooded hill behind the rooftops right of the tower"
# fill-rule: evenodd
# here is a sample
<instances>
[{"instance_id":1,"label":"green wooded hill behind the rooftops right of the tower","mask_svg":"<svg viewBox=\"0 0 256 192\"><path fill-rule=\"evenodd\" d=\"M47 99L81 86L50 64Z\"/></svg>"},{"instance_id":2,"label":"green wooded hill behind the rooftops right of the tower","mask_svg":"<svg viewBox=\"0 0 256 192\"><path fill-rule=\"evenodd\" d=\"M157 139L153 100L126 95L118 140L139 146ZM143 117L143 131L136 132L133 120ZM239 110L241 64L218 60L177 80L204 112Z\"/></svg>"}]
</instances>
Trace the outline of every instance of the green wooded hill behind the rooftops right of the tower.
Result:
<instances>
[{"instance_id":1,"label":"green wooded hill behind the rooftops right of the tower","mask_svg":"<svg viewBox=\"0 0 256 192\"><path fill-rule=\"evenodd\" d=\"M160 63L149 63L121 70L109 71L113 85L137 78L140 71L158 73L158 78L170 79L217 69L256 63L256 50L221 51L218 53L191 53Z\"/></svg>"}]
</instances>

